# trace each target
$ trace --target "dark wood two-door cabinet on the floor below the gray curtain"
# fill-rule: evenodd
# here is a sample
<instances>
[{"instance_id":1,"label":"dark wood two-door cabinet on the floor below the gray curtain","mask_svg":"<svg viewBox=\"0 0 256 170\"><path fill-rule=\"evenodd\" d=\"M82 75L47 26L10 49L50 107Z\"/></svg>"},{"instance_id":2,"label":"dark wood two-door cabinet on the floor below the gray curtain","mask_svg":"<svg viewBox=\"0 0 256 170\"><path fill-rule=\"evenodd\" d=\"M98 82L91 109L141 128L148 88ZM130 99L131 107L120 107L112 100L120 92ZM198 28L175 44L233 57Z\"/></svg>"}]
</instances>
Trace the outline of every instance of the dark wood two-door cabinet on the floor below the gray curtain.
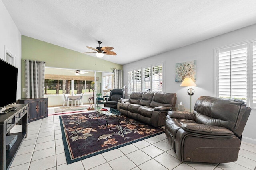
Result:
<instances>
[{"instance_id":1,"label":"dark wood two-door cabinet on the floor below the gray curtain","mask_svg":"<svg viewBox=\"0 0 256 170\"><path fill-rule=\"evenodd\" d=\"M28 104L28 122L48 117L48 98L24 98L18 104Z\"/></svg>"}]
</instances>

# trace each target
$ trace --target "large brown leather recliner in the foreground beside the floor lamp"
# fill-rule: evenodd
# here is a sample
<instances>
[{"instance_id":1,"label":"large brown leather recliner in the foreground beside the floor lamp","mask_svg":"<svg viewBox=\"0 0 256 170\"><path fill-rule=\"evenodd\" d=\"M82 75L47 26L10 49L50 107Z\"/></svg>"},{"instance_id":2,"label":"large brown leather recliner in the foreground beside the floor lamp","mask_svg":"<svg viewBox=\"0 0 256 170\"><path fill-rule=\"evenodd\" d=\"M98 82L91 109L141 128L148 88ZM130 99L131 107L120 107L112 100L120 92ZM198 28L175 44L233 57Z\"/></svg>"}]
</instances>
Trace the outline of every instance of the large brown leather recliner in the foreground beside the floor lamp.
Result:
<instances>
[{"instance_id":1,"label":"large brown leather recliner in the foreground beside the floor lamp","mask_svg":"<svg viewBox=\"0 0 256 170\"><path fill-rule=\"evenodd\" d=\"M242 100L201 96L193 113L168 112L165 133L180 161L234 162L250 112Z\"/></svg>"}]
</instances>

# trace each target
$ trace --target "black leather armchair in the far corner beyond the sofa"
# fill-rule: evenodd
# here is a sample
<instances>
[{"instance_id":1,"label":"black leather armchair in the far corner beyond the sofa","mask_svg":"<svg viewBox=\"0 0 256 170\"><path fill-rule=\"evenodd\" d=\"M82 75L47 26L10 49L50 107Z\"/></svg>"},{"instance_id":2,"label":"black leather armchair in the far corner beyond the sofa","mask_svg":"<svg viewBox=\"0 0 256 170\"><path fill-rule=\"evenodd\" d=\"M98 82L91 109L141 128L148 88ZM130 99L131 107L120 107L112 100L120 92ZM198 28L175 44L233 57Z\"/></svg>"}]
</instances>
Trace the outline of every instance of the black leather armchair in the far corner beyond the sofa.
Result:
<instances>
[{"instance_id":1,"label":"black leather armchair in the far corner beyond the sofa","mask_svg":"<svg viewBox=\"0 0 256 170\"><path fill-rule=\"evenodd\" d=\"M104 107L111 107L113 109L117 109L117 102L120 99L124 98L124 89L113 89L110 90L109 98L105 98L106 102L104 103Z\"/></svg>"}]
</instances>

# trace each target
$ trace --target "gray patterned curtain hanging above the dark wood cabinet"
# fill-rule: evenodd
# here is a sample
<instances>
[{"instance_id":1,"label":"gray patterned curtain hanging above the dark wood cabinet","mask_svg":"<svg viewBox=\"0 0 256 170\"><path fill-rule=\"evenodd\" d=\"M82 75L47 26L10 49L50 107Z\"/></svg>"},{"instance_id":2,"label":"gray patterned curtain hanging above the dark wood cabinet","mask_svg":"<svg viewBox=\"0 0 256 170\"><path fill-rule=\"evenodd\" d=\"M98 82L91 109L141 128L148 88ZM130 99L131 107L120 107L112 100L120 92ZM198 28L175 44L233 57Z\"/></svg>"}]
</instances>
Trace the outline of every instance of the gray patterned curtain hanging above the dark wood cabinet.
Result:
<instances>
[{"instance_id":1,"label":"gray patterned curtain hanging above the dark wood cabinet","mask_svg":"<svg viewBox=\"0 0 256 170\"><path fill-rule=\"evenodd\" d=\"M44 97L44 61L25 60L26 98Z\"/></svg>"}]
</instances>

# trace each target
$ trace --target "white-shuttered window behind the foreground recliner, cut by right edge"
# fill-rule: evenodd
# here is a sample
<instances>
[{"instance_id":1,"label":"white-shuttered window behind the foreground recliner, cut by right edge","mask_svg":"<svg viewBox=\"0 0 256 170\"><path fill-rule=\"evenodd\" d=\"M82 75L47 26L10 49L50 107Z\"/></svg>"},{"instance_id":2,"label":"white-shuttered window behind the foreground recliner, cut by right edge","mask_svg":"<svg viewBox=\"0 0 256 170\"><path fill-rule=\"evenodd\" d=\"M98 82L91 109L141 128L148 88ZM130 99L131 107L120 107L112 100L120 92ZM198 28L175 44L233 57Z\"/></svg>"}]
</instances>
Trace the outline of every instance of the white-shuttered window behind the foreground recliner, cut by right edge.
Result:
<instances>
[{"instance_id":1,"label":"white-shuttered window behind the foreground recliner, cut by right edge","mask_svg":"<svg viewBox=\"0 0 256 170\"><path fill-rule=\"evenodd\" d=\"M256 107L256 43L216 49L216 96Z\"/></svg>"}]
</instances>

